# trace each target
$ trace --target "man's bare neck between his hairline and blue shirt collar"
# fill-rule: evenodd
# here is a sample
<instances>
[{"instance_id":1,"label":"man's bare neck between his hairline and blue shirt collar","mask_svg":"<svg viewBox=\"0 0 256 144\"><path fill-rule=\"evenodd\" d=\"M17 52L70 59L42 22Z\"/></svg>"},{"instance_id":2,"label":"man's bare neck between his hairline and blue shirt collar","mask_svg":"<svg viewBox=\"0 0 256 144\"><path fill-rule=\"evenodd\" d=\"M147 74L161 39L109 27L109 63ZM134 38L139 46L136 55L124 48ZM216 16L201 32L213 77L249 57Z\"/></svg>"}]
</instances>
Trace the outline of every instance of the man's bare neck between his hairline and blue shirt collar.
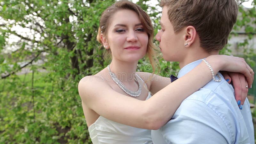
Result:
<instances>
[{"instance_id":1,"label":"man's bare neck between his hairline and blue shirt collar","mask_svg":"<svg viewBox=\"0 0 256 144\"><path fill-rule=\"evenodd\" d=\"M190 53L183 59L183 61L180 61L180 69L193 61L204 59L210 55L215 55L215 54L219 54L219 52L213 51L213 52Z\"/></svg>"}]
</instances>

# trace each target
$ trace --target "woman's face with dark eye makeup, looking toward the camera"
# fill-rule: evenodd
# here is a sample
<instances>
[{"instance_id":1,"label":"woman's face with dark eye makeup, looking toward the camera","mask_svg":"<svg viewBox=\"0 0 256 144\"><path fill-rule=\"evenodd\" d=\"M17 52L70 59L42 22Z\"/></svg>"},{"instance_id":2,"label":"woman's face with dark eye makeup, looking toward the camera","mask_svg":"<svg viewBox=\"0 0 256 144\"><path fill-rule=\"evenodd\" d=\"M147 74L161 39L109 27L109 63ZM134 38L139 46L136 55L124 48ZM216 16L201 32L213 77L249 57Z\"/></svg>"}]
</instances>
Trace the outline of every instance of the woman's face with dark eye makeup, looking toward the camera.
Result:
<instances>
[{"instance_id":1,"label":"woman's face with dark eye makeup, looking toward the camera","mask_svg":"<svg viewBox=\"0 0 256 144\"><path fill-rule=\"evenodd\" d=\"M107 42L112 59L138 61L147 52L148 34L132 10L119 10L109 20Z\"/></svg>"}]
</instances>

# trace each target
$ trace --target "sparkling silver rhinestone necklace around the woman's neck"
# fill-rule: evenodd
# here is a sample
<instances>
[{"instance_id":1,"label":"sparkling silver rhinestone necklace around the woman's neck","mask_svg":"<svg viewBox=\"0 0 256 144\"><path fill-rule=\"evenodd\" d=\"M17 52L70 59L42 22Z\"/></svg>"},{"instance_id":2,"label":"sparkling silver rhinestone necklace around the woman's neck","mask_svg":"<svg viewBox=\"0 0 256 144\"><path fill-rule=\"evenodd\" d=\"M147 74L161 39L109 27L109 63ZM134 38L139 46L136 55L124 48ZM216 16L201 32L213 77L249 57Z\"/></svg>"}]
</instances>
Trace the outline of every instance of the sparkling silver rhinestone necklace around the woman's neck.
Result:
<instances>
[{"instance_id":1,"label":"sparkling silver rhinestone necklace around the woman's neck","mask_svg":"<svg viewBox=\"0 0 256 144\"><path fill-rule=\"evenodd\" d=\"M138 91L137 91L137 92L133 92L133 91L127 89L127 88L124 86L124 84L116 77L116 74L114 74L114 73L111 72L111 70L110 70L110 68L109 68L109 65L108 65L108 71L109 71L109 74L110 74L112 80L113 80L125 93L127 93L127 94L129 94L130 96L133 96L133 97L137 97L137 96L140 95L140 93L141 93L141 85L140 85L140 83L139 83L139 81L138 81L138 79L137 79L136 76L135 76L135 79L136 79L136 81L138 82L139 88L138 88Z\"/></svg>"}]
</instances>

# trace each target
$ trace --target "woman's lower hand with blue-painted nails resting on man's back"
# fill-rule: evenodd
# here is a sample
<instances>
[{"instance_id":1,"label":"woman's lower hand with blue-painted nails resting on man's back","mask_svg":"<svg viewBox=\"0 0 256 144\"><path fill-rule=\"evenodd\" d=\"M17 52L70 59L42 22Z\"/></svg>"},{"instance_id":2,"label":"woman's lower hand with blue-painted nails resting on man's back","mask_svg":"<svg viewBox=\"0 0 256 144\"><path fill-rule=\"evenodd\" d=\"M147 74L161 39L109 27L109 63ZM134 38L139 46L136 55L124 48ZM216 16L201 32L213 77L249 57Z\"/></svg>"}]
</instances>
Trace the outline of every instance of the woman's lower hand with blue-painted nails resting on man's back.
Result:
<instances>
[{"instance_id":1,"label":"woman's lower hand with blue-painted nails resting on man's back","mask_svg":"<svg viewBox=\"0 0 256 144\"><path fill-rule=\"evenodd\" d=\"M248 85L245 77L241 73L233 73L221 71L221 74L224 76L225 80L230 84L232 82L235 89L235 98L237 105L240 109L243 109L244 101L247 97L248 88L244 85Z\"/></svg>"}]
</instances>

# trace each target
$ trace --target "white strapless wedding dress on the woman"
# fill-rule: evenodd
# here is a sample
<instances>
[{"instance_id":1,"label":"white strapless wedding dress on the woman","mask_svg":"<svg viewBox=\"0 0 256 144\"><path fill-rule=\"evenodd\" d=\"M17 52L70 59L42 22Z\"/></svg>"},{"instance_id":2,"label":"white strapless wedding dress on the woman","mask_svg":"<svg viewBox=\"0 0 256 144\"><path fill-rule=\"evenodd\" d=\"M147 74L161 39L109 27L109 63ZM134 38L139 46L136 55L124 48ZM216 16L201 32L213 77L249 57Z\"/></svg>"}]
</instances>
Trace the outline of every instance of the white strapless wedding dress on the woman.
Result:
<instances>
[{"instance_id":1,"label":"white strapless wedding dress on the woman","mask_svg":"<svg viewBox=\"0 0 256 144\"><path fill-rule=\"evenodd\" d=\"M151 97L148 92L149 99ZM153 144L151 130L116 123L100 116L88 128L93 144Z\"/></svg>"}]
</instances>

